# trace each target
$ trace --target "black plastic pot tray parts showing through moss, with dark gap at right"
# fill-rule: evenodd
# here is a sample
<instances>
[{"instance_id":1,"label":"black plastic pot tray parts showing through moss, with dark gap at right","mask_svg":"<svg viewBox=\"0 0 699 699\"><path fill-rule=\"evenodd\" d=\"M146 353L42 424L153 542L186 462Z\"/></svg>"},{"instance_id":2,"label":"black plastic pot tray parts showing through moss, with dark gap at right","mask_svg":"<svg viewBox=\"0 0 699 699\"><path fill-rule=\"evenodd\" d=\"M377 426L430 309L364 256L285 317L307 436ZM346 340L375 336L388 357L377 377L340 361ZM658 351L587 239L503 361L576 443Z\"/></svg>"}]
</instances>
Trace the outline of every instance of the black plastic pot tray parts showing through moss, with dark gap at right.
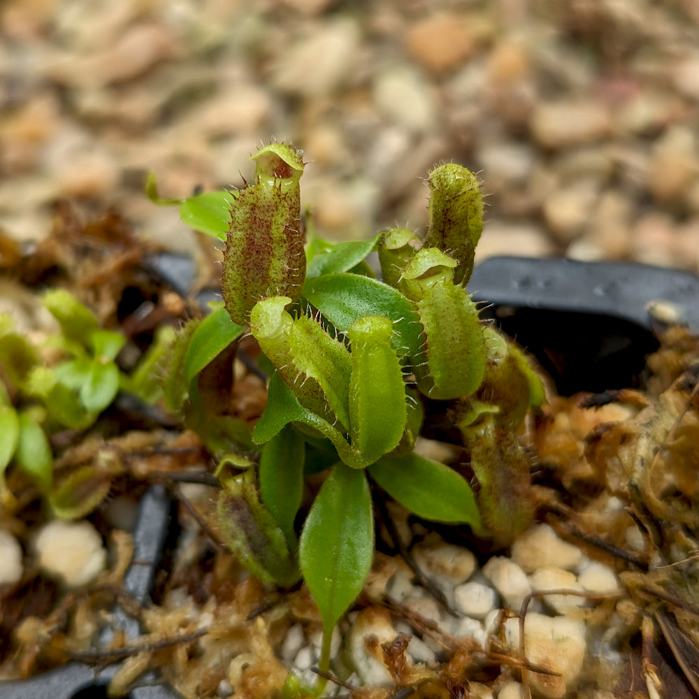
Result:
<instances>
[{"instance_id":1,"label":"black plastic pot tray parts showing through moss, with dark gap at right","mask_svg":"<svg viewBox=\"0 0 699 699\"><path fill-rule=\"evenodd\" d=\"M163 253L148 261L175 291L186 296L195 278L191 259ZM568 259L493 257L476 266L469 283L484 314L534 354L559 391L602 391L633 385L645 357L658 346L658 321L649 304L672 304L699 332L699 277L654 266ZM204 289L201 305L216 298ZM134 563L127 590L145 603L166 537L171 503L161 487L147 491L134 531ZM123 612L130 633L138 624ZM83 663L20 681L0 682L0 699L103 699L118 664L95 670ZM156 680L154 674L147 677ZM168 686L139 686L129 699L177 699Z\"/></svg>"}]
</instances>

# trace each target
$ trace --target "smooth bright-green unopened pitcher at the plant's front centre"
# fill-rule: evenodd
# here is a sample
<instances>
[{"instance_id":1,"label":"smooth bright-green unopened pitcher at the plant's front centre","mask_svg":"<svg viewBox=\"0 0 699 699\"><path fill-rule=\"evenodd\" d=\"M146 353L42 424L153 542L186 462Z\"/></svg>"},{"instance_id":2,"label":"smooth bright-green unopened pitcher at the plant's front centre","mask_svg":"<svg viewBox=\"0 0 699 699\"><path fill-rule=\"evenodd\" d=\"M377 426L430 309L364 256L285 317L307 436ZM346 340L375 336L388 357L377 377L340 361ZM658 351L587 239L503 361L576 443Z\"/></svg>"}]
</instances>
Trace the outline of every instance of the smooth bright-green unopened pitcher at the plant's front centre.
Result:
<instances>
[{"instance_id":1,"label":"smooth bright-green unopened pitcher at the plant's front centre","mask_svg":"<svg viewBox=\"0 0 699 699\"><path fill-rule=\"evenodd\" d=\"M405 383L396 351L393 323L366 316L347 331L352 343L349 380L349 435L352 449L368 463L398 446L407 420Z\"/></svg>"}]
</instances>

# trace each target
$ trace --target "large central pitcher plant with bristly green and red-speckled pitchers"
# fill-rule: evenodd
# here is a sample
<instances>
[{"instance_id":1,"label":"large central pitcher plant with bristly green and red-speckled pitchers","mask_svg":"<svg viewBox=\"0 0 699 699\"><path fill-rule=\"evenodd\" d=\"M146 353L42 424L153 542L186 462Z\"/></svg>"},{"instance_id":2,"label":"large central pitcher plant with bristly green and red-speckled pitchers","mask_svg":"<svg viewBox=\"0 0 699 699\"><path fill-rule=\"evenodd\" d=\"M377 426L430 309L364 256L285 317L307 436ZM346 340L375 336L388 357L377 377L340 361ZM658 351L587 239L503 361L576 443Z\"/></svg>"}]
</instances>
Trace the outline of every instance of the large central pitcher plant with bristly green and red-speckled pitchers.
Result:
<instances>
[{"instance_id":1,"label":"large central pitcher plant with bristly green and red-speckled pitchers","mask_svg":"<svg viewBox=\"0 0 699 699\"><path fill-rule=\"evenodd\" d=\"M224 303L180 333L166 402L221 459L217 511L229 547L265 582L308 585L326 672L333 627L372 563L372 492L478 536L513 536L535 507L517 430L544 391L466 289L483 213L470 171L445 164L429 173L424 242L391 229L306 244L301 152L273 143L252 159L243 189L179 202L185 222L225 243ZM154 182L150 193L157 199ZM226 415L210 380L230 379L247 333L268 375L252 433ZM415 452L428 425L459 442L470 480ZM302 509L304 479L318 473L322 485Z\"/></svg>"}]
</instances>

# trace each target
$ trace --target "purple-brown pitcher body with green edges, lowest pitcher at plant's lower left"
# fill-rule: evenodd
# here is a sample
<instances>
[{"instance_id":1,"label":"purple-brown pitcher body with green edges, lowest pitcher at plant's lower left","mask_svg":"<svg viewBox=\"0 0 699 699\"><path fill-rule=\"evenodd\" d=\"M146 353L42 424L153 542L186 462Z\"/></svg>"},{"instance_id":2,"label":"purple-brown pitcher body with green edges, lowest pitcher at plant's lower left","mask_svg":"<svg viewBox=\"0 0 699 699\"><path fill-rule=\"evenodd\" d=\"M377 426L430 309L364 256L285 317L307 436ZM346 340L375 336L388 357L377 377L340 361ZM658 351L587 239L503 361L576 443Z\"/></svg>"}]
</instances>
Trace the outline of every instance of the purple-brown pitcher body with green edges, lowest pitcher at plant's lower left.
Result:
<instances>
[{"instance_id":1,"label":"purple-brown pitcher body with green edges, lowest pitcher at plant's lower left","mask_svg":"<svg viewBox=\"0 0 699 699\"><path fill-rule=\"evenodd\" d=\"M217 512L224 541L252 575L283 587L298 580L298 566L284 533L245 475L225 482Z\"/></svg>"}]
</instances>

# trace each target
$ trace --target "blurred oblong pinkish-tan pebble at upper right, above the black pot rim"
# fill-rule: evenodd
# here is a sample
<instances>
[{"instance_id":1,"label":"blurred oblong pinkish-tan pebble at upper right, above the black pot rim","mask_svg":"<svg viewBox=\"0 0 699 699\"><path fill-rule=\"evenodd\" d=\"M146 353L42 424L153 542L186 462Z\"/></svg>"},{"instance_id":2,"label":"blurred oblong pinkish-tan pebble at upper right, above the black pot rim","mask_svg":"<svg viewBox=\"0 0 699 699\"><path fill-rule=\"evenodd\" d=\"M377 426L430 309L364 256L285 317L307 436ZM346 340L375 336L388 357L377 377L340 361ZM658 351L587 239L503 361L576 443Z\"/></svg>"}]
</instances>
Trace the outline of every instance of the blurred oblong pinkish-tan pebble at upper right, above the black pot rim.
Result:
<instances>
[{"instance_id":1,"label":"blurred oblong pinkish-tan pebble at upper right, above the black pot rim","mask_svg":"<svg viewBox=\"0 0 699 699\"><path fill-rule=\"evenodd\" d=\"M600 140L610 131L610 115L594 101L542 102L530 119L533 138L547 148L562 148Z\"/></svg>"}]
</instances>

